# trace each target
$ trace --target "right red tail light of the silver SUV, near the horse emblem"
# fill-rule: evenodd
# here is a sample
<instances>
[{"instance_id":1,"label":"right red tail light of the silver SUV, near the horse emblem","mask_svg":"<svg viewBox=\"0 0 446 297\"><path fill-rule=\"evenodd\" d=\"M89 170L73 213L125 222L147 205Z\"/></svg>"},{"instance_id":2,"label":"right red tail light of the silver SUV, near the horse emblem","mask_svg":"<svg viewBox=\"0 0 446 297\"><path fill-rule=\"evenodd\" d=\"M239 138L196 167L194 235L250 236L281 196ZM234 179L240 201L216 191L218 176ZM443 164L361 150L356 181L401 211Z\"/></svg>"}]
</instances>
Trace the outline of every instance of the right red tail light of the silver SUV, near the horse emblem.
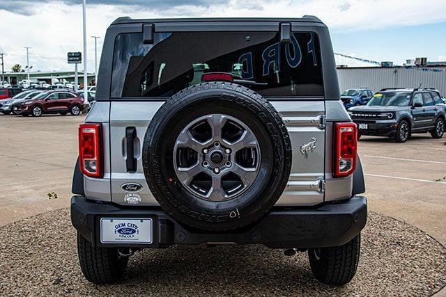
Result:
<instances>
[{"instance_id":1,"label":"right red tail light of the silver SUV, near the horse emblem","mask_svg":"<svg viewBox=\"0 0 446 297\"><path fill-rule=\"evenodd\" d=\"M354 122L334 125L334 177L346 177L356 170L357 127Z\"/></svg>"}]
</instances>

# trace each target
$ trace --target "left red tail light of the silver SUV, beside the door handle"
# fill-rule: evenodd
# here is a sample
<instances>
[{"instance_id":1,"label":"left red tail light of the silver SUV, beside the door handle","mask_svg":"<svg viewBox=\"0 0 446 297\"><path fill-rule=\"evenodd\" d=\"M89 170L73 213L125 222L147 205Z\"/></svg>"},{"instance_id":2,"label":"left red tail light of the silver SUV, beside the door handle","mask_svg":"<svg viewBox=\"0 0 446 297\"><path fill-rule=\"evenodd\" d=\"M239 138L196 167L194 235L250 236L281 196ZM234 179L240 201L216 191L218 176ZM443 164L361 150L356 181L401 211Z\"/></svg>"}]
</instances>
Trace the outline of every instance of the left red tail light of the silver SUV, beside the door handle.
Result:
<instances>
[{"instance_id":1,"label":"left red tail light of the silver SUV, beside the door handle","mask_svg":"<svg viewBox=\"0 0 446 297\"><path fill-rule=\"evenodd\" d=\"M102 177L101 125L79 126L79 166L87 177Z\"/></svg>"}]
</instances>

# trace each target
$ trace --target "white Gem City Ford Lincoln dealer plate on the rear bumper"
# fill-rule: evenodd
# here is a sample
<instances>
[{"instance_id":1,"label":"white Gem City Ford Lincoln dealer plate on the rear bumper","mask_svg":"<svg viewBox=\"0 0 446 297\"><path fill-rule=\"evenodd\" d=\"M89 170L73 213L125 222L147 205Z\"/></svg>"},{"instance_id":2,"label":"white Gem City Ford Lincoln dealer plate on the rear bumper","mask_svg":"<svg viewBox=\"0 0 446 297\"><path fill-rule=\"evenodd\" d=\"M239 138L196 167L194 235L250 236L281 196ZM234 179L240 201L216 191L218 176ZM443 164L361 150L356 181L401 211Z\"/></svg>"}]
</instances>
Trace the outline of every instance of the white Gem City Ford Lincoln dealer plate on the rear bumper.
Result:
<instances>
[{"instance_id":1,"label":"white Gem City Ford Lincoln dealer plate on the rear bumper","mask_svg":"<svg viewBox=\"0 0 446 297\"><path fill-rule=\"evenodd\" d=\"M101 218L100 242L146 243L153 241L151 218Z\"/></svg>"}]
</instances>

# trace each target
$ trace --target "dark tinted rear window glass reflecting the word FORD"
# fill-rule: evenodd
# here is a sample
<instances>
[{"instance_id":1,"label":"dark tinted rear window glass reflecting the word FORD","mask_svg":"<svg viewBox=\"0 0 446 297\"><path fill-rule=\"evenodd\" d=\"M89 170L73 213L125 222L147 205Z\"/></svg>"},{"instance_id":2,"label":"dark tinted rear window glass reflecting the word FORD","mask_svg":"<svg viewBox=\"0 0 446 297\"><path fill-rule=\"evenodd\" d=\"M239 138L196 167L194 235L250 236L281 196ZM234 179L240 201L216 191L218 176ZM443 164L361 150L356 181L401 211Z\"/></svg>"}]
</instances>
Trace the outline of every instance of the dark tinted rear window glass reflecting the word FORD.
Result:
<instances>
[{"instance_id":1,"label":"dark tinted rear window glass reflecting the word FORD","mask_svg":"<svg viewBox=\"0 0 446 297\"><path fill-rule=\"evenodd\" d=\"M153 45L143 44L142 33L118 35L112 97L170 97L215 72L263 96L323 95L314 33L293 33L281 43L275 32L178 32L155 33Z\"/></svg>"}]
</instances>

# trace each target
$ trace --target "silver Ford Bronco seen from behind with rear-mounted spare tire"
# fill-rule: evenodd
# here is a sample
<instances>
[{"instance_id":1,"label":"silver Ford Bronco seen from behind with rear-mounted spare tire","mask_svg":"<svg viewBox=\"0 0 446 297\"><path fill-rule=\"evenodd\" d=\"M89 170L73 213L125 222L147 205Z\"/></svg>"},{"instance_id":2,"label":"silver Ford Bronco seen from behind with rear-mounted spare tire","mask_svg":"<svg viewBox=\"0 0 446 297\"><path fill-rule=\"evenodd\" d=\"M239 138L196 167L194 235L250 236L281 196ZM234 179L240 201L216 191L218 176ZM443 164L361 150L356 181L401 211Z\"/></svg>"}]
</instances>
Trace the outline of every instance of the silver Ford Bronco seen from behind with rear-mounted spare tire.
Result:
<instances>
[{"instance_id":1,"label":"silver Ford Bronco seen from behind with rear-mounted spare tire","mask_svg":"<svg viewBox=\"0 0 446 297\"><path fill-rule=\"evenodd\" d=\"M364 177L319 19L124 17L102 48L72 184L87 280L117 282L144 248L229 243L353 278Z\"/></svg>"}]
</instances>

